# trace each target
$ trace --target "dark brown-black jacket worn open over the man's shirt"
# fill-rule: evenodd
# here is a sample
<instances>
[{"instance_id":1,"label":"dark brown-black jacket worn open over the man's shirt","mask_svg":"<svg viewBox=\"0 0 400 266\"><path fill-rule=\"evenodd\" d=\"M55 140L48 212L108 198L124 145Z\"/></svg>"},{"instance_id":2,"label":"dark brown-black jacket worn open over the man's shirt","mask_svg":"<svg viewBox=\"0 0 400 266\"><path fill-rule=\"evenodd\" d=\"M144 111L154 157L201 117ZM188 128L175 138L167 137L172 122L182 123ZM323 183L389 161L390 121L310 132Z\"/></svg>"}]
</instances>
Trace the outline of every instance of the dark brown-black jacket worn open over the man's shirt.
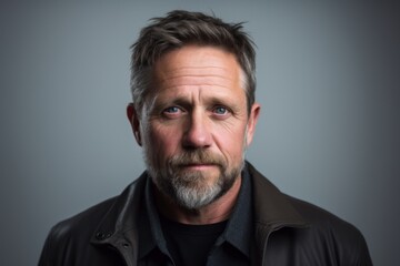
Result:
<instances>
[{"instance_id":1,"label":"dark brown-black jacket worn open over the man's shirt","mask_svg":"<svg viewBox=\"0 0 400 266\"><path fill-rule=\"evenodd\" d=\"M249 164L257 265L372 265L361 233L309 203L282 194ZM138 224L147 174L120 196L56 225L40 266L137 265Z\"/></svg>"}]
</instances>

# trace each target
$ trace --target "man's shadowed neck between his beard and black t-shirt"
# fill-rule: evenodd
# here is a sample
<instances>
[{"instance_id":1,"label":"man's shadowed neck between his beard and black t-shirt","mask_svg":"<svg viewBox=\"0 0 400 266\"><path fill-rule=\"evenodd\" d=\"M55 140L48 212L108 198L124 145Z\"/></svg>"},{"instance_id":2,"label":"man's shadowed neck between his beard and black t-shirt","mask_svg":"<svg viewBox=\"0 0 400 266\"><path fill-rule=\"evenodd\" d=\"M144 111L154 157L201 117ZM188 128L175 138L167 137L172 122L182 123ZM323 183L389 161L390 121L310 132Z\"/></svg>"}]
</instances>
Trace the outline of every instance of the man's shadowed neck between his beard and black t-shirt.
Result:
<instances>
[{"instance_id":1,"label":"man's shadowed neck between his beard and black t-shirt","mask_svg":"<svg viewBox=\"0 0 400 266\"><path fill-rule=\"evenodd\" d=\"M216 224L230 217L240 185L241 177L234 181L232 187L224 195L199 209L187 209L177 205L154 186L156 205L163 216L181 224Z\"/></svg>"}]
</instances>

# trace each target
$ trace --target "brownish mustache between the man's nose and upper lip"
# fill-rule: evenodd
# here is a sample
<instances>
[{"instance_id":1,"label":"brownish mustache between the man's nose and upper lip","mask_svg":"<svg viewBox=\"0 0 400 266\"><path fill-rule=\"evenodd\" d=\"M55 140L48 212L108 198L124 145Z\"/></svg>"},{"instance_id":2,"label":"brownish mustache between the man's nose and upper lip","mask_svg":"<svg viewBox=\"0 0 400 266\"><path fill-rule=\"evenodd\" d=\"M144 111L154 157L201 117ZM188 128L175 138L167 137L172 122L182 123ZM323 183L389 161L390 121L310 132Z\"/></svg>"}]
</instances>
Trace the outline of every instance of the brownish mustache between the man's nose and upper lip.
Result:
<instances>
[{"instance_id":1,"label":"brownish mustache between the man's nose and upper lip","mask_svg":"<svg viewBox=\"0 0 400 266\"><path fill-rule=\"evenodd\" d=\"M190 164L214 164L219 165L220 167L224 167L226 161L221 155L217 155L214 153L203 150L196 150L190 152L186 151L183 153L172 156L169 164L172 167L179 167Z\"/></svg>"}]
</instances>

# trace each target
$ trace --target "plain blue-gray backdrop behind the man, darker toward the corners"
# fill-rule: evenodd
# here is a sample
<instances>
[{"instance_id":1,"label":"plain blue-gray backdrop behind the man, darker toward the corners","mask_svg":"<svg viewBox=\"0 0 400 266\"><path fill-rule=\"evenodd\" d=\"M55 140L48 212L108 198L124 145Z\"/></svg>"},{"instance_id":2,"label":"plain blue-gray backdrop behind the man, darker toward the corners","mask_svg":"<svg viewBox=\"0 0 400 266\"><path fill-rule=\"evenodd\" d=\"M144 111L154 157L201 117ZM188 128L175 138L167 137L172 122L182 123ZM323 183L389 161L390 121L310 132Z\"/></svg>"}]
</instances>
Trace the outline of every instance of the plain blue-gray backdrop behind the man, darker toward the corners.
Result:
<instances>
[{"instance_id":1,"label":"plain blue-gray backdrop behind the man, darker toward the corners","mask_svg":"<svg viewBox=\"0 0 400 266\"><path fill-rule=\"evenodd\" d=\"M281 191L358 226L376 265L398 263L396 4L110 2L0 4L0 265L36 265L54 223L142 172L124 114L129 47L171 9L248 21L262 103L248 158Z\"/></svg>"}]
</instances>

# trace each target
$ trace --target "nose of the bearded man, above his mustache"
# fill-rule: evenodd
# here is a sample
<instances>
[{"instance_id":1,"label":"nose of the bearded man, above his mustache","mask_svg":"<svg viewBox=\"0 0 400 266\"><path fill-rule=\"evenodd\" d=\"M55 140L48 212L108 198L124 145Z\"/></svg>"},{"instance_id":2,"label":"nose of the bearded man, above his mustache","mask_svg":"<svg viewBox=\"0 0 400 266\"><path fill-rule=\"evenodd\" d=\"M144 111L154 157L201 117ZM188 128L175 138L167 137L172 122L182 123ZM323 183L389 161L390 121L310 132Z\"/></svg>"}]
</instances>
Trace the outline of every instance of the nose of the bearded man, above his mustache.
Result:
<instances>
[{"instance_id":1,"label":"nose of the bearded man, above his mustache","mask_svg":"<svg viewBox=\"0 0 400 266\"><path fill-rule=\"evenodd\" d=\"M184 130L182 144L187 149L204 149L211 146L212 136L206 115L193 113Z\"/></svg>"}]
</instances>

